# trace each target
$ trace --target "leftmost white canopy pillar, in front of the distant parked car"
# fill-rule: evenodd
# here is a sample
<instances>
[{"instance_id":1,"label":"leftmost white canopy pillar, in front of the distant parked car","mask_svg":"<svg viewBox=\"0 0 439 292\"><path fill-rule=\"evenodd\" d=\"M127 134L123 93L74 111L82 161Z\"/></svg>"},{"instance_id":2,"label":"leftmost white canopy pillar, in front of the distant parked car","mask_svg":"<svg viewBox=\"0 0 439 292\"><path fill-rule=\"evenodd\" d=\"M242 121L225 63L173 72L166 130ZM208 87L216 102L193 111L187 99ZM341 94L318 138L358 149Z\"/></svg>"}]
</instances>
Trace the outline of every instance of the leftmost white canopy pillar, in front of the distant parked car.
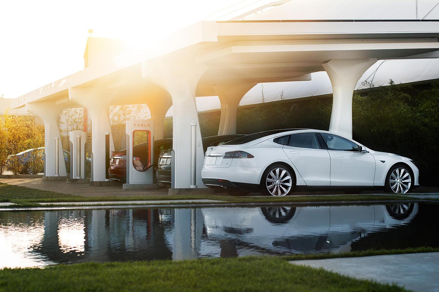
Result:
<instances>
[{"instance_id":1,"label":"leftmost white canopy pillar, in front of the distant parked car","mask_svg":"<svg viewBox=\"0 0 439 292\"><path fill-rule=\"evenodd\" d=\"M55 141L58 138L58 163L59 176L66 179L67 172L65 169L64 152L62 150L61 137L59 133L59 114L63 106L56 105L55 102L26 103L26 110L36 116L39 116L44 122L44 154L46 156L44 170L48 178L55 177Z\"/></svg>"}]
</instances>

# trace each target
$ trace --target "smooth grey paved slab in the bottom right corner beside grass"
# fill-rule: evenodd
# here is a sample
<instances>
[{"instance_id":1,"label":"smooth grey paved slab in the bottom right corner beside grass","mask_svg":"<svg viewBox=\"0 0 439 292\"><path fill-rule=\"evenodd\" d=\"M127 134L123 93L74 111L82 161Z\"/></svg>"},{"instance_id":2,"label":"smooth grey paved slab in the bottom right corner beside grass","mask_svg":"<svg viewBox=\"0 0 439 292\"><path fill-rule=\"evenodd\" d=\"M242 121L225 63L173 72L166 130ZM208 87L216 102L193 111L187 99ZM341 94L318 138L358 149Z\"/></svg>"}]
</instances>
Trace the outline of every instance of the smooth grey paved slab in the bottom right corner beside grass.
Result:
<instances>
[{"instance_id":1,"label":"smooth grey paved slab in the bottom right corner beside grass","mask_svg":"<svg viewBox=\"0 0 439 292\"><path fill-rule=\"evenodd\" d=\"M326 260L294 260L359 279L396 283L414 291L439 292L439 253L408 253Z\"/></svg>"}]
</instances>

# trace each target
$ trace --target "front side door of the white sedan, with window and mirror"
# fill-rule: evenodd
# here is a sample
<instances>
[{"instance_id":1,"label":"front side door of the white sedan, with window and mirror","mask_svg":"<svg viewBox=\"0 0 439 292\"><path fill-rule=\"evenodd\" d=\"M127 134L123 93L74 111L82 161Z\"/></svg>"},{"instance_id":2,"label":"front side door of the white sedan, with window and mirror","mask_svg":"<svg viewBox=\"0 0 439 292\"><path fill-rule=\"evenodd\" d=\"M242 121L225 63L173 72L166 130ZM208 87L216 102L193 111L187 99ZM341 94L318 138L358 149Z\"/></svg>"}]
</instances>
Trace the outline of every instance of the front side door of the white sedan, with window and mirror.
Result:
<instances>
[{"instance_id":1,"label":"front side door of the white sedan, with window and mirror","mask_svg":"<svg viewBox=\"0 0 439 292\"><path fill-rule=\"evenodd\" d=\"M331 186L373 186L375 159L346 138L320 133L331 157Z\"/></svg>"}]
</instances>

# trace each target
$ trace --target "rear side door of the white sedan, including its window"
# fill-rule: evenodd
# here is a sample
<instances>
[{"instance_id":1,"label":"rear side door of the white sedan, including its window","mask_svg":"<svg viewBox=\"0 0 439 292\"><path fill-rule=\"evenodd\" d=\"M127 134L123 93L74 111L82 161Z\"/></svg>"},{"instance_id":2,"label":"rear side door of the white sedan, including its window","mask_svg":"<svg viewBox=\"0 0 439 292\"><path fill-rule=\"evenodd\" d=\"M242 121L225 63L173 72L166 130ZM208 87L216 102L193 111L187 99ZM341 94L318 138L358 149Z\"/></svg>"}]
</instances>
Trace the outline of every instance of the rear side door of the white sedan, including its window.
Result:
<instances>
[{"instance_id":1,"label":"rear side door of the white sedan, including its window","mask_svg":"<svg viewBox=\"0 0 439 292\"><path fill-rule=\"evenodd\" d=\"M276 139L275 139L276 140ZM329 186L331 162L328 151L320 147L316 133L291 134L283 150L307 186ZM274 141L274 140L273 140Z\"/></svg>"}]
</instances>

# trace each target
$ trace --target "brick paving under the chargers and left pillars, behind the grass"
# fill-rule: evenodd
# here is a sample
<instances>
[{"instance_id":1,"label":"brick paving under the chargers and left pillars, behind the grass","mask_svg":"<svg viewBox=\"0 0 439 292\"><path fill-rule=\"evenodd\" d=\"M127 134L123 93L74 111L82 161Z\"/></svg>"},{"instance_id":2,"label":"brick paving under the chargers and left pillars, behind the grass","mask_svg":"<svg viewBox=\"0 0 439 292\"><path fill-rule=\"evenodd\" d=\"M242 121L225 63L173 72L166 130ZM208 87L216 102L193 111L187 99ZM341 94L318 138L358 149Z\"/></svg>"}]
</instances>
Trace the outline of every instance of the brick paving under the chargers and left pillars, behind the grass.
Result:
<instances>
[{"instance_id":1,"label":"brick paving under the chargers and left pillars, behind the grass","mask_svg":"<svg viewBox=\"0 0 439 292\"><path fill-rule=\"evenodd\" d=\"M131 197L144 196L151 197L157 195L168 195L168 189L158 190L122 190L122 183L118 186L89 186L87 183L65 183L60 181L42 181L42 179L0 179L0 183L7 183L15 186L27 186L32 189L50 190L69 195L83 197L95 196L115 196Z\"/></svg>"}]
</instances>

